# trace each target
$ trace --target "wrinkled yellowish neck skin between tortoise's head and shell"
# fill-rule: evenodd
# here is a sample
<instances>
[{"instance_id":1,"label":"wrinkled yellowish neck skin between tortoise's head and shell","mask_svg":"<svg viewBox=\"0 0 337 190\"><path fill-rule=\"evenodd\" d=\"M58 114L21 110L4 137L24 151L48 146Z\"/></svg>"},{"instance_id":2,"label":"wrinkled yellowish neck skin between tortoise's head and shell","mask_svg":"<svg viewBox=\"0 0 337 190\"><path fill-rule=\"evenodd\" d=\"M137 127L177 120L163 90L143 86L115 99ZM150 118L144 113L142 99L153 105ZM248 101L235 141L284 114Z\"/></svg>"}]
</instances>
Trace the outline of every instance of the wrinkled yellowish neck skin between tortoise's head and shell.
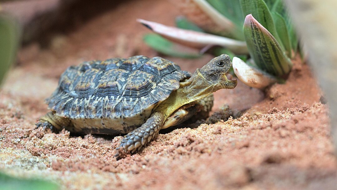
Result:
<instances>
[{"instance_id":1,"label":"wrinkled yellowish neck skin between tortoise's head and shell","mask_svg":"<svg viewBox=\"0 0 337 190\"><path fill-rule=\"evenodd\" d=\"M197 69L192 77L186 82L181 82L179 89L173 91L166 100L161 102L154 112L161 112L165 121L179 107L204 98L219 89L221 85L205 79Z\"/></svg>"}]
</instances>

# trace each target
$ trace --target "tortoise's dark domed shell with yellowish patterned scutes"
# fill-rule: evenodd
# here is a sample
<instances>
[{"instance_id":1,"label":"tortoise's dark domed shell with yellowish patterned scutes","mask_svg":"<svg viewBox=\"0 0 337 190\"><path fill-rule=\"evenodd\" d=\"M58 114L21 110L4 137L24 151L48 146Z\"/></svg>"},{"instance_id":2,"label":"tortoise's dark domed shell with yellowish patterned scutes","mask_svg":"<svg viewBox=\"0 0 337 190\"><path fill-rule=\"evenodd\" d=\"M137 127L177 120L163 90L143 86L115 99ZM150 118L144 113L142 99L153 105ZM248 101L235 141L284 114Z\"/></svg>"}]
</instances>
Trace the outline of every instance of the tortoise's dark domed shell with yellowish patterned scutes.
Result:
<instances>
[{"instance_id":1,"label":"tortoise's dark domed shell with yellowish patterned scutes","mask_svg":"<svg viewBox=\"0 0 337 190\"><path fill-rule=\"evenodd\" d=\"M70 131L128 133L190 75L161 57L87 61L68 67L47 104L72 121Z\"/></svg>"}]
</instances>

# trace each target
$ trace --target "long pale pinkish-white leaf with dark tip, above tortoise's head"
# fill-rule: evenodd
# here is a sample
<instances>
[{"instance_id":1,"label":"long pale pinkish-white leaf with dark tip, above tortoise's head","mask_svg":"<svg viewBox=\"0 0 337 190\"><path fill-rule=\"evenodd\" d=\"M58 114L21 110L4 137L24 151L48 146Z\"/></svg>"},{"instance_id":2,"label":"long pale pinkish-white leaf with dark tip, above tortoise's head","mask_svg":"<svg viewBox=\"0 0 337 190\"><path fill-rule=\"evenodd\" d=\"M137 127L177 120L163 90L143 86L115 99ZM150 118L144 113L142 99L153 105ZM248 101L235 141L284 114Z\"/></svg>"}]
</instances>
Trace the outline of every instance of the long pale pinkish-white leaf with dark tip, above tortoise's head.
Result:
<instances>
[{"instance_id":1,"label":"long pale pinkish-white leaf with dark tip, above tortoise's head","mask_svg":"<svg viewBox=\"0 0 337 190\"><path fill-rule=\"evenodd\" d=\"M247 53L246 43L239 40L234 40L227 37L217 36L213 34L207 34L203 32L196 32L191 30L184 30L176 27L165 26L163 24L150 22L142 19L138 19L138 22L142 23L147 28L154 32L171 39L174 42L183 44L190 47L203 48L207 45L219 45L226 47L235 53Z\"/></svg>"}]
</instances>

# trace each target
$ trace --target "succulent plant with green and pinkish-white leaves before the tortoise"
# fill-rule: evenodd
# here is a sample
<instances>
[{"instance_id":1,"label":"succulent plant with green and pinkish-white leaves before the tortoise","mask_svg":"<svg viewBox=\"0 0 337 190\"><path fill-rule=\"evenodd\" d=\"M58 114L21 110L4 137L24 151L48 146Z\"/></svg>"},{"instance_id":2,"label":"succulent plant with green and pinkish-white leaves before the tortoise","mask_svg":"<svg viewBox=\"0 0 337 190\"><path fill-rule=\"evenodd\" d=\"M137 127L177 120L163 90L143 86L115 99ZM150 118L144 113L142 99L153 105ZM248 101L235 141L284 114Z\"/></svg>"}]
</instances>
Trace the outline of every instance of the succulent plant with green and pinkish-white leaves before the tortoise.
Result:
<instances>
[{"instance_id":1,"label":"succulent plant with green and pinkish-white leaves before the tortoise","mask_svg":"<svg viewBox=\"0 0 337 190\"><path fill-rule=\"evenodd\" d=\"M209 25L202 27L182 17L176 20L178 28L144 20L139 22L161 36L173 39L174 42L171 42L173 44L179 43L199 49L221 46L222 49L226 49L225 51L236 55L250 55L251 59L247 62L233 60L234 72L249 86L264 88L270 83L286 78L292 67L291 59L299 49L296 33L282 0L192 0L191 2L213 21L215 27ZM161 44L159 40L148 43L147 39L145 42L157 51L156 46ZM172 53L173 51L167 53L167 50L166 52L159 50L159 52L181 56ZM216 52L219 51L210 52L217 56ZM249 69L250 78L240 78L246 75L246 69ZM253 85L252 83L262 80L256 78L261 75L268 75L263 78L265 81L263 85ZM266 82L268 79L270 80Z\"/></svg>"}]
</instances>

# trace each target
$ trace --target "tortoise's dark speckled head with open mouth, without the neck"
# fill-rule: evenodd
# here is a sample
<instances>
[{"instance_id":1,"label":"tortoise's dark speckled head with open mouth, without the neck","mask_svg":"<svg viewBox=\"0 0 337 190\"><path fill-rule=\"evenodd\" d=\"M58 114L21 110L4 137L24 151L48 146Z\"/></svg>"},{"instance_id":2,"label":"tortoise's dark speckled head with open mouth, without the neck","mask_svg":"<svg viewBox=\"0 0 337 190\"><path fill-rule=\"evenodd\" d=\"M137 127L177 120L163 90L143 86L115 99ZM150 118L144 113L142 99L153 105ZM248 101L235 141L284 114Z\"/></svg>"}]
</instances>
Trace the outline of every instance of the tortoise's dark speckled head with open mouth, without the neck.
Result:
<instances>
[{"instance_id":1,"label":"tortoise's dark speckled head with open mouth, without the neck","mask_svg":"<svg viewBox=\"0 0 337 190\"><path fill-rule=\"evenodd\" d=\"M231 67L231 58L226 54L222 54L213 58L199 72L211 84L217 86L217 88L233 89L237 85L237 80L232 80L232 75L227 74Z\"/></svg>"}]
</instances>

